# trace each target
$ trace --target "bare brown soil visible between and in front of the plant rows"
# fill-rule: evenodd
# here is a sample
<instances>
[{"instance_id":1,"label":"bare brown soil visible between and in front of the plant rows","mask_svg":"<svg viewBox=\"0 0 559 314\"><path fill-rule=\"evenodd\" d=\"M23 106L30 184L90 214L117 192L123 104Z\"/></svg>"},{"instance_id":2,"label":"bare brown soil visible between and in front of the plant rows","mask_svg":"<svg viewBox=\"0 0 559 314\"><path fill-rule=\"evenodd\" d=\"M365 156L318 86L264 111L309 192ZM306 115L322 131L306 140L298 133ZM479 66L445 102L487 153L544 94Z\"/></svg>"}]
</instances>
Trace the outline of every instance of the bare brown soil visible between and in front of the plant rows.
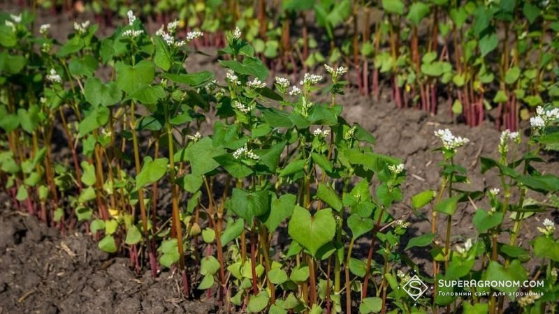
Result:
<instances>
[{"instance_id":1,"label":"bare brown soil visible between and in front of the plant rows","mask_svg":"<svg viewBox=\"0 0 559 314\"><path fill-rule=\"evenodd\" d=\"M68 33L71 30L69 17L41 18L38 23L53 23L53 29L57 29L57 34ZM210 50L208 54L215 55L215 51ZM225 75L225 70L217 64L215 57L203 54L193 54L189 57L187 68L193 72L210 70L216 73L217 79L221 81ZM349 82L355 82L352 74L349 74ZM273 75L270 75L268 83L271 83L272 77ZM298 82L297 77L289 78L292 82ZM477 128L469 128L455 123L455 119L451 117L450 105L443 103L443 100L440 100L440 112L430 116L419 110L398 110L389 98L388 91L381 95L379 101L374 101L359 95L356 89L347 89L345 95L337 98L337 103L344 106L342 115L347 121L357 122L377 137L374 148L377 153L404 160L407 169L407 181L402 186L404 201L391 209L389 214L394 218L399 218L410 210L409 199L412 195L428 188L437 188L440 181L437 164L442 161L442 156L431 149L439 144L438 139L433 135L433 131L439 128L450 128L454 134L470 139L470 143L460 149L456 158L456 163L467 168L470 179L470 184L462 188L485 190L500 186L495 172L482 175L479 164L479 156L492 158L497 156L500 133L490 122L491 119ZM488 114L495 114L495 112ZM213 119L205 121L201 129L203 135L211 133L212 123ZM521 126L525 130L526 125ZM53 157L56 160L67 160L66 162L70 164L71 154L64 142L64 135L61 133L58 135L59 142L57 147L53 147ZM524 142L525 136L526 134L523 137ZM546 153L544 158L548 163L537 165L537 169L542 173L558 174L558 155ZM221 195L222 184L219 182L216 184L220 186L216 188L217 195ZM158 214L170 216L168 197L170 193L165 193L164 188L168 190L168 187L163 186L162 192L159 193ZM513 198L517 196L513 195ZM537 198L531 193L529 196ZM191 300L182 297L178 274L163 271L158 278L153 279L146 268L147 265L144 265L146 267L138 275L129 267L127 258L99 251L89 235L75 230L66 237L61 237L59 230L48 227L34 217L15 211L7 200L5 191L0 191L0 313L216 313L218 311L215 299L207 298L200 292L197 292L198 294ZM484 202L477 202L479 208L488 209L487 206L488 204ZM430 214L428 208L419 211L424 216ZM476 236L477 230L471 223L474 211L471 204L465 204L456 211L452 223L455 235L451 239L453 244L462 243L466 238ZM541 225L544 218L551 218L559 223L557 211L528 218L521 229L519 245L529 248L529 241L537 235L536 226ZM440 219L442 221L442 218ZM407 220L410 226L407 234L402 237L400 253L419 264L423 275L430 276L431 261L426 248L403 251L410 238L430 232L430 224L414 214ZM441 241L441 236L446 233L446 224L438 223L438 225L437 233L440 234L439 241ZM286 227L282 225L275 234L277 252L289 245L286 239ZM359 239L354 247L354 257L366 257L369 244L370 237ZM375 260L382 262L377 255L375 253ZM539 262L537 259L532 259L525 264L525 268L530 274L534 274ZM189 264L189 269L194 270L194 261ZM195 272L189 271L189 273ZM196 287L199 279L190 276L192 289Z\"/></svg>"}]
</instances>

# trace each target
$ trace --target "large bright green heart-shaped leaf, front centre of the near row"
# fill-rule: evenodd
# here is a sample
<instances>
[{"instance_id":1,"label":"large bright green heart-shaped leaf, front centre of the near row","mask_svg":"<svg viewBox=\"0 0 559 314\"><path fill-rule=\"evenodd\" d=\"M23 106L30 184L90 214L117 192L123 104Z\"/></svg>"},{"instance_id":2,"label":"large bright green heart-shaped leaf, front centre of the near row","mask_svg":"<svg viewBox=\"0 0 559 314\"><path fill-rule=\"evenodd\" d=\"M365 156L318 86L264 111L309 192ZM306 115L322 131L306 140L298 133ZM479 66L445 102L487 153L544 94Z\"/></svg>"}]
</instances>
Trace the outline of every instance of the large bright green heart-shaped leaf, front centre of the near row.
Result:
<instances>
[{"instance_id":1,"label":"large bright green heart-shaped leaf, front centre of the near row","mask_svg":"<svg viewBox=\"0 0 559 314\"><path fill-rule=\"evenodd\" d=\"M319 249L334 239L335 228L331 209L321 209L311 216L310 211L296 206L289 220L288 233L312 256L317 257Z\"/></svg>"}]
</instances>

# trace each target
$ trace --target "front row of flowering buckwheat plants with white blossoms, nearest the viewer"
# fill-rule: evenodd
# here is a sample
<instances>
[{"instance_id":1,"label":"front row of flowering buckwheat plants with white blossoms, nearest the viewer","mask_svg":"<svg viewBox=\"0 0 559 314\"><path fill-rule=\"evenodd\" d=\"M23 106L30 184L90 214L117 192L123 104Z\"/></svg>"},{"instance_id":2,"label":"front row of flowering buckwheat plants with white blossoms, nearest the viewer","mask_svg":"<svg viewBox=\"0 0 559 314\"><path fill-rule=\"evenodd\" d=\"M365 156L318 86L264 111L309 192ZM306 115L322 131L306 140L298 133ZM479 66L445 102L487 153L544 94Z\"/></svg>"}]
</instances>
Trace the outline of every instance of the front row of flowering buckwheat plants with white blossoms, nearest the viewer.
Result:
<instances>
[{"instance_id":1,"label":"front row of flowering buckwheat plants with white blossoms, nearest the viewer","mask_svg":"<svg viewBox=\"0 0 559 314\"><path fill-rule=\"evenodd\" d=\"M556 107L538 107L528 140L504 131L498 158L480 159L502 192L470 190L455 160L468 140L438 130L441 184L403 202L402 160L376 153L375 137L341 115L347 68L324 66L328 84L305 73L298 83L275 77L270 88L268 68L237 28L218 52L220 82L185 70L203 33L177 36L180 23L170 22L152 35L132 11L126 18L104 38L97 24L76 22L59 43L27 12L0 14L0 179L15 209L63 233L85 228L138 272L174 269L184 297L205 292L226 312L556 310L555 224L545 220L529 245L518 244L525 220L558 207L559 177L537 170L542 151L559 142ZM398 203L409 207L402 216ZM453 215L470 206L476 233L453 248L463 239ZM412 216L432 232L403 246ZM413 258L426 248L433 276ZM463 287L435 287L414 300L400 288L409 269L435 286L528 276L544 285L472 298L447 293Z\"/></svg>"}]
</instances>

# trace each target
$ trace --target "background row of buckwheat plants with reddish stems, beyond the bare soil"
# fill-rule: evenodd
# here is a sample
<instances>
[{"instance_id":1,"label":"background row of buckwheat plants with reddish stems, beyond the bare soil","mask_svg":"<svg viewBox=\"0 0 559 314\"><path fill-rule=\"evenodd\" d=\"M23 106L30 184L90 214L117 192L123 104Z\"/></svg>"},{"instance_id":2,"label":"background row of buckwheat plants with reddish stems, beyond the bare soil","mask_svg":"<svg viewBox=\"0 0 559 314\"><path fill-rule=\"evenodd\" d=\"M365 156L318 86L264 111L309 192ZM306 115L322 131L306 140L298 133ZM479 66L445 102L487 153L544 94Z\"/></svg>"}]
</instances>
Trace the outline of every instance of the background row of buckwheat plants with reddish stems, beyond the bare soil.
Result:
<instances>
[{"instance_id":1,"label":"background row of buckwheat plants with reddish stems, beyond the bare soil","mask_svg":"<svg viewBox=\"0 0 559 314\"><path fill-rule=\"evenodd\" d=\"M197 47L225 45L220 30L237 25L275 70L302 77L326 61L345 63L363 94L378 100L387 82L398 107L433 114L445 99L470 126L496 107L498 128L516 130L533 108L559 95L556 1L177 0L138 8L92 1L79 7L106 22L128 8L158 22L177 17L187 29L212 34L196 40Z\"/></svg>"}]
</instances>

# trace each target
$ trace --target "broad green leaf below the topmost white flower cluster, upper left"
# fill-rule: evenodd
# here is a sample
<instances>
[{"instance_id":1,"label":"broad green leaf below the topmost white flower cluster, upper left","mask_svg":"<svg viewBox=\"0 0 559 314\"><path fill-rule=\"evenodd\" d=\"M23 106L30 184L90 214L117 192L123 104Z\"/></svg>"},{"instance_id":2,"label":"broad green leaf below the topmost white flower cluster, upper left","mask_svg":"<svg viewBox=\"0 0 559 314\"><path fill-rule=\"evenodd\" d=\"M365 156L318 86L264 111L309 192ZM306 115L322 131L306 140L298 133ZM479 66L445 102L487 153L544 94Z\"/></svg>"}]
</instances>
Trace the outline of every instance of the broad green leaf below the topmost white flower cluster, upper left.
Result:
<instances>
[{"instance_id":1,"label":"broad green leaf below the topmost white flower cluster, upper left","mask_svg":"<svg viewBox=\"0 0 559 314\"><path fill-rule=\"evenodd\" d=\"M147 60L142 60L135 66L119 61L115 64L115 70L117 70L117 85L127 94L133 94L142 85L150 84L155 76L155 67Z\"/></svg>"}]
</instances>

